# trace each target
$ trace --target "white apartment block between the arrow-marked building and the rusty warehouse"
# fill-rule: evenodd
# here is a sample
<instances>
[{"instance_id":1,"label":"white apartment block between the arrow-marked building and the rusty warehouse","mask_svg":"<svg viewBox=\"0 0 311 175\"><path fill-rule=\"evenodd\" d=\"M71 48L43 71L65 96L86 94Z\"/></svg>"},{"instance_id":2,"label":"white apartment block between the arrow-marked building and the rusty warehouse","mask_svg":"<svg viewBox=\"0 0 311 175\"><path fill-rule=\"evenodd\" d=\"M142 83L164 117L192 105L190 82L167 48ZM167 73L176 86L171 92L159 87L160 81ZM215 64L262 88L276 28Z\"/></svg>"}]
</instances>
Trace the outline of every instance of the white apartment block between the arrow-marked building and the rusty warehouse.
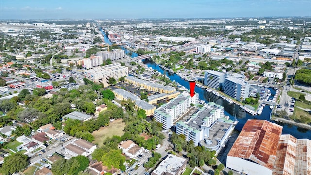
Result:
<instances>
[{"instance_id":1,"label":"white apartment block between the arrow-marked building and the rusty warehouse","mask_svg":"<svg viewBox=\"0 0 311 175\"><path fill-rule=\"evenodd\" d=\"M187 121L176 123L176 133L186 136L186 140L193 140L198 145L200 140L209 136L211 125L219 118L223 118L224 107L210 102L193 114Z\"/></svg>"}]
</instances>

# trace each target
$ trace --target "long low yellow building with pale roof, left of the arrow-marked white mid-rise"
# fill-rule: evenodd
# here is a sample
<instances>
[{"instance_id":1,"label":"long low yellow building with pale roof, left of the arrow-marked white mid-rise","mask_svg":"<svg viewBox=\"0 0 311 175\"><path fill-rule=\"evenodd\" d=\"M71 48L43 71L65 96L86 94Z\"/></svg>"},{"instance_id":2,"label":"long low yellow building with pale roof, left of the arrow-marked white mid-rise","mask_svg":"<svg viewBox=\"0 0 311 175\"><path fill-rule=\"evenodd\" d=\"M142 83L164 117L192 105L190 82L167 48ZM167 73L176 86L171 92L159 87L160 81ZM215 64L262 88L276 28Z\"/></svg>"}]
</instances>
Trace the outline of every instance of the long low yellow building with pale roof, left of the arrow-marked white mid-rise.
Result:
<instances>
[{"instance_id":1,"label":"long low yellow building with pale roof, left of the arrow-marked white mid-rise","mask_svg":"<svg viewBox=\"0 0 311 175\"><path fill-rule=\"evenodd\" d=\"M145 100L140 100L140 98L131 92L128 92L124 89L115 89L113 90L113 93L115 94L117 99L120 100L127 100L130 99L135 102L135 106L143 109L146 112L147 116L150 116L154 114L155 106L149 104Z\"/></svg>"}]
</instances>

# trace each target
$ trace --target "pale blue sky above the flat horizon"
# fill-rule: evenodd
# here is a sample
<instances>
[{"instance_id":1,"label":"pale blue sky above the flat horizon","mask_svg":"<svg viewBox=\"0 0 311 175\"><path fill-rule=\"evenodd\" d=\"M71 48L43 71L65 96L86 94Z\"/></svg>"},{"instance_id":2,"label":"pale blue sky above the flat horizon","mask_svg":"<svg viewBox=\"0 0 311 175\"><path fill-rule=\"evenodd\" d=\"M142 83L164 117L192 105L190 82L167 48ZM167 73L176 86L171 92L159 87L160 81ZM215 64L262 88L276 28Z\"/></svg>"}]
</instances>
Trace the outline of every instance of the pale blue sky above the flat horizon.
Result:
<instances>
[{"instance_id":1,"label":"pale blue sky above the flat horizon","mask_svg":"<svg viewBox=\"0 0 311 175\"><path fill-rule=\"evenodd\" d=\"M0 0L0 19L311 16L311 0Z\"/></svg>"}]
</instances>

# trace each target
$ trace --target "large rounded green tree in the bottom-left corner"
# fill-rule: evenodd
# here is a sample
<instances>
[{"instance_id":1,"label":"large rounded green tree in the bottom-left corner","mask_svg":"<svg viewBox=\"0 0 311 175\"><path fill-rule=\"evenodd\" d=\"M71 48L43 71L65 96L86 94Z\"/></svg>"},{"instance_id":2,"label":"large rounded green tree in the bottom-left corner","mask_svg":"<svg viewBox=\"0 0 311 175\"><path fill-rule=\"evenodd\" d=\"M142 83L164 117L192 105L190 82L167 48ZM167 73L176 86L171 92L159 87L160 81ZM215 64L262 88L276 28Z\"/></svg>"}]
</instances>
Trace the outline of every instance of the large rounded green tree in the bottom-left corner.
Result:
<instances>
[{"instance_id":1,"label":"large rounded green tree in the bottom-left corner","mask_svg":"<svg viewBox=\"0 0 311 175\"><path fill-rule=\"evenodd\" d=\"M18 171L25 169L29 165L29 157L22 153L16 153L4 158L1 167L3 175L12 175Z\"/></svg>"}]
</instances>

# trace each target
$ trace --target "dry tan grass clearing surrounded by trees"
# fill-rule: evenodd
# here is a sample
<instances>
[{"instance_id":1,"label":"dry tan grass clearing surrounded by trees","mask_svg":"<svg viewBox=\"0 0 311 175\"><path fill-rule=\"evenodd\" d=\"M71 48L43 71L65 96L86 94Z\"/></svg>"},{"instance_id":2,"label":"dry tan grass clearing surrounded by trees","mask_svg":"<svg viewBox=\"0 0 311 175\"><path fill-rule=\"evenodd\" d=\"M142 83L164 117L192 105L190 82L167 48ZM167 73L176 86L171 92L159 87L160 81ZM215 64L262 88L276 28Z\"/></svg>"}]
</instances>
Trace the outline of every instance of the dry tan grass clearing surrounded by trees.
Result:
<instances>
[{"instance_id":1,"label":"dry tan grass clearing surrounded by trees","mask_svg":"<svg viewBox=\"0 0 311 175\"><path fill-rule=\"evenodd\" d=\"M93 143L100 147L103 145L103 141L107 137L122 136L124 134L124 127L125 123L122 122L122 119L114 120L109 124L109 126L101 127L99 130L92 133L92 135L95 137Z\"/></svg>"}]
</instances>

